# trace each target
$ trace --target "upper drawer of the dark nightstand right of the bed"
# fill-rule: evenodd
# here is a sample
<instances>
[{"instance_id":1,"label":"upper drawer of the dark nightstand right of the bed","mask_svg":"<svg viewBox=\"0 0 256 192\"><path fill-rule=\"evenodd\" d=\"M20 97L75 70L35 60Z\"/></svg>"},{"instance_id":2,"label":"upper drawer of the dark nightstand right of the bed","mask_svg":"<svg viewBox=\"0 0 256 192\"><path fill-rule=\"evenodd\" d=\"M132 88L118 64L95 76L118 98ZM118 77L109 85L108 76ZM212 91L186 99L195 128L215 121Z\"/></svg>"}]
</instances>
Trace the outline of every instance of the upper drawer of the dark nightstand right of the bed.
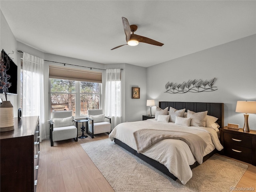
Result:
<instances>
[{"instance_id":1,"label":"upper drawer of the dark nightstand right of the bed","mask_svg":"<svg viewBox=\"0 0 256 192\"><path fill-rule=\"evenodd\" d=\"M225 143L252 148L252 138L239 134L224 133L224 145L226 146Z\"/></svg>"}]
</instances>

